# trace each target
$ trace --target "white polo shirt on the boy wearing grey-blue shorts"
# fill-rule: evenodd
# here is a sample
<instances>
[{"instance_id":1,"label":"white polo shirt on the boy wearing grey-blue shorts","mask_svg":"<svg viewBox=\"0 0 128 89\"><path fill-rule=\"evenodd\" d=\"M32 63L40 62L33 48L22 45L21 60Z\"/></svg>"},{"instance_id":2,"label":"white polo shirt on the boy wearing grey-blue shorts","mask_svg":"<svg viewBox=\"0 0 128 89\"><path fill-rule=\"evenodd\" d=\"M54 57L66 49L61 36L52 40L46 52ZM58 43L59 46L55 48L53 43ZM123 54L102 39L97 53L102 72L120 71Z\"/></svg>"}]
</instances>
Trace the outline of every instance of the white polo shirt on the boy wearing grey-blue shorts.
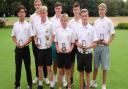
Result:
<instances>
[{"instance_id":1,"label":"white polo shirt on the boy wearing grey-blue shorts","mask_svg":"<svg viewBox=\"0 0 128 89\"><path fill-rule=\"evenodd\" d=\"M96 30L98 39L100 40L100 34L104 35L104 40L108 41L108 39L111 37L112 34L115 34L114 25L112 21L107 18L98 18L94 22L94 28Z\"/></svg>"}]
</instances>

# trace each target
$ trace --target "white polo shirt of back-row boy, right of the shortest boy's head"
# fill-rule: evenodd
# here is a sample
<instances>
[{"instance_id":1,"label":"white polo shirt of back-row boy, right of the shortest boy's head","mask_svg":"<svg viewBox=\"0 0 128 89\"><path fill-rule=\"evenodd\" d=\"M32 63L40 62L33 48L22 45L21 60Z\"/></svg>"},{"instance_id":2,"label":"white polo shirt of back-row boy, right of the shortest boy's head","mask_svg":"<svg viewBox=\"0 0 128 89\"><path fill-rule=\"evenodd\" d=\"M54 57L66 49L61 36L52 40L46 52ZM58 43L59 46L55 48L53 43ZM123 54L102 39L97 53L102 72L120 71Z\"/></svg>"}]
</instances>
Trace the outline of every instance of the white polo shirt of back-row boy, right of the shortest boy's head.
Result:
<instances>
[{"instance_id":1,"label":"white polo shirt of back-row boy, right of the shortest boy's head","mask_svg":"<svg viewBox=\"0 0 128 89\"><path fill-rule=\"evenodd\" d=\"M81 25L82 25L82 20L81 19L76 21L75 18L72 18L69 21L69 27L73 30L74 35L76 35L77 31L80 30L79 28L80 28ZM76 40L76 38L75 38L75 40Z\"/></svg>"}]
</instances>

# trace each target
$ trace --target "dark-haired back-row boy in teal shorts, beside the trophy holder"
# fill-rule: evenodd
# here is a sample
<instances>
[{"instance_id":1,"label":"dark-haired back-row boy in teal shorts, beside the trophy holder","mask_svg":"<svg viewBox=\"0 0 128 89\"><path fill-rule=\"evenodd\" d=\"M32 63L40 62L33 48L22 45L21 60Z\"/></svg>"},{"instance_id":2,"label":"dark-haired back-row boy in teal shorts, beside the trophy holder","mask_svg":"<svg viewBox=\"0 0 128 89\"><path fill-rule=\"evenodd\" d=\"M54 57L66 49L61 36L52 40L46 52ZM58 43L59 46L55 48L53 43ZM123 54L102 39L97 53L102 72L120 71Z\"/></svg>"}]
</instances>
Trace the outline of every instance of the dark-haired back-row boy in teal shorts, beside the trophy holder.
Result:
<instances>
[{"instance_id":1,"label":"dark-haired back-row boy in teal shorts, beside the trophy holder","mask_svg":"<svg viewBox=\"0 0 128 89\"><path fill-rule=\"evenodd\" d=\"M57 33L57 29L60 28L60 17L62 12L62 4L60 2L56 2L54 6L55 15L50 19L50 23L52 25L53 30L53 39L55 38L55 34ZM53 72L54 72L54 80L57 82L57 54L55 42L52 43L52 60L53 60ZM64 75L64 74L63 74ZM67 81L65 80L65 76L62 79L63 86L67 86Z\"/></svg>"}]
</instances>

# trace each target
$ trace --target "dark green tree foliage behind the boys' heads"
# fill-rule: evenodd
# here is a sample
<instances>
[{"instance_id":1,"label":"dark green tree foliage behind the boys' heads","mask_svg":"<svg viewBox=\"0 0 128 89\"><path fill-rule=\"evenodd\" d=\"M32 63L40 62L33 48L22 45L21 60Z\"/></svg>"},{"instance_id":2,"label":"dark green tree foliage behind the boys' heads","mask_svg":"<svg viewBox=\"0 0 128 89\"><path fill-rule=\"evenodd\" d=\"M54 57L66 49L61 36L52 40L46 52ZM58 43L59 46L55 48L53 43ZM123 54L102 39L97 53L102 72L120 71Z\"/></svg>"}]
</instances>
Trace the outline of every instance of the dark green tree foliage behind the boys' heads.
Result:
<instances>
[{"instance_id":1,"label":"dark green tree foliage behind the boys' heads","mask_svg":"<svg viewBox=\"0 0 128 89\"><path fill-rule=\"evenodd\" d=\"M63 5L63 13L68 13L69 16L73 16L72 5L74 2L79 2L81 8L87 8L90 16L98 16L97 6L105 2L108 6L108 16L126 16L128 15L128 1L122 0L42 0L42 3L48 6L49 16L54 15L55 2L61 2ZM6 14L6 16L16 15L17 7L23 4L27 8L27 15L29 16L34 12L33 7L34 0L0 0L0 16Z\"/></svg>"}]
</instances>

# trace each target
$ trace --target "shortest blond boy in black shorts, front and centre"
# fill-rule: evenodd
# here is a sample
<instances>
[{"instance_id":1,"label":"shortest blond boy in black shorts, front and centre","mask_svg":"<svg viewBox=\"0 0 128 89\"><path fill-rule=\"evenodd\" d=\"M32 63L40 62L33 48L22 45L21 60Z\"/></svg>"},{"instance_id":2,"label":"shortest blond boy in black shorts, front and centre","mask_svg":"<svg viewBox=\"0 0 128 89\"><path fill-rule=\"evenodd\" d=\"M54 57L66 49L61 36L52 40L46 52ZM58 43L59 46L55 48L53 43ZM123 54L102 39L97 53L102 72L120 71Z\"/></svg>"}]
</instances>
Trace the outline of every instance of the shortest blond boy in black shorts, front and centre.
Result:
<instances>
[{"instance_id":1,"label":"shortest blond boy in black shorts, front and centre","mask_svg":"<svg viewBox=\"0 0 128 89\"><path fill-rule=\"evenodd\" d=\"M68 27L68 15L62 14L60 18L61 27L55 35L58 65L58 89L62 89L62 76L65 70L67 75L68 89L71 89L71 57L70 53L74 47L74 36L72 29Z\"/></svg>"}]
</instances>

